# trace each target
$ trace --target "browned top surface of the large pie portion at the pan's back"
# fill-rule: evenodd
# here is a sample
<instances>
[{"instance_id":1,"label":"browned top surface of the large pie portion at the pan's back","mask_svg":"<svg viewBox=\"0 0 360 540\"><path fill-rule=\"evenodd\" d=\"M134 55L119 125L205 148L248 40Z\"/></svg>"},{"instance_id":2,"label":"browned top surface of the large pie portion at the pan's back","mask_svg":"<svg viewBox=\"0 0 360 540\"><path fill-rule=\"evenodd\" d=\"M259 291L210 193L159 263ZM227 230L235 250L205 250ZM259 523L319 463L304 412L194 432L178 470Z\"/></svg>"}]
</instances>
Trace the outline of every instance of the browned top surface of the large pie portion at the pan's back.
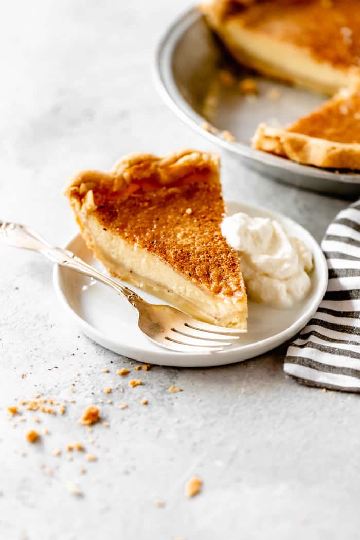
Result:
<instances>
[{"instance_id":1,"label":"browned top surface of the large pie portion at the pan's back","mask_svg":"<svg viewBox=\"0 0 360 540\"><path fill-rule=\"evenodd\" d=\"M339 68L360 65L358 0L264 0L243 7L237 0L215 0L224 17L239 17L251 30L308 49Z\"/></svg>"}]
</instances>

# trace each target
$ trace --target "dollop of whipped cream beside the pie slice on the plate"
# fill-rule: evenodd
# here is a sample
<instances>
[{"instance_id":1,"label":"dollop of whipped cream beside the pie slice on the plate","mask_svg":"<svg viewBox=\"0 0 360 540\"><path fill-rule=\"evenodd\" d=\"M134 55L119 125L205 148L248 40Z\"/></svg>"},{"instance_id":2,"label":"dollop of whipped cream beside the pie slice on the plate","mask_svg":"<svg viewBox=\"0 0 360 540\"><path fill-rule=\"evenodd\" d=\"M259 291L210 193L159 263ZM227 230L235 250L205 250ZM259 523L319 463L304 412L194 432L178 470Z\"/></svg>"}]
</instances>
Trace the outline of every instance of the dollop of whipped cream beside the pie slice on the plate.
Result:
<instances>
[{"instance_id":1,"label":"dollop of whipped cream beside the pie slice on the plate","mask_svg":"<svg viewBox=\"0 0 360 540\"><path fill-rule=\"evenodd\" d=\"M221 232L239 253L250 298L269 306L291 307L307 296L313 257L304 242L289 237L279 221L240 212L223 219Z\"/></svg>"}]
</instances>

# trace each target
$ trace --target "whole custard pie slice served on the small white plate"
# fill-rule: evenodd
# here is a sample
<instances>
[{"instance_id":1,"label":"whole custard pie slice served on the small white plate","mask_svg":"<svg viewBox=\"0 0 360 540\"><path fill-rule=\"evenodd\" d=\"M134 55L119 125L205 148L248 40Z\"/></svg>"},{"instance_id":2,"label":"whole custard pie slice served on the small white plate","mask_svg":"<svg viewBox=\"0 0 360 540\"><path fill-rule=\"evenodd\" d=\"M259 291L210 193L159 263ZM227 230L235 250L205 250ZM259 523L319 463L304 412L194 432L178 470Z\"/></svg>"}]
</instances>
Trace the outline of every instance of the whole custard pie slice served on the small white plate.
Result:
<instances>
[{"instance_id":1,"label":"whole custard pie slice served on the small white plate","mask_svg":"<svg viewBox=\"0 0 360 540\"><path fill-rule=\"evenodd\" d=\"M81 233L108 271L194 317L246 328L239 259L220 231L219 158L130 154L65 185Z\"/></svg>"}]
</instances>

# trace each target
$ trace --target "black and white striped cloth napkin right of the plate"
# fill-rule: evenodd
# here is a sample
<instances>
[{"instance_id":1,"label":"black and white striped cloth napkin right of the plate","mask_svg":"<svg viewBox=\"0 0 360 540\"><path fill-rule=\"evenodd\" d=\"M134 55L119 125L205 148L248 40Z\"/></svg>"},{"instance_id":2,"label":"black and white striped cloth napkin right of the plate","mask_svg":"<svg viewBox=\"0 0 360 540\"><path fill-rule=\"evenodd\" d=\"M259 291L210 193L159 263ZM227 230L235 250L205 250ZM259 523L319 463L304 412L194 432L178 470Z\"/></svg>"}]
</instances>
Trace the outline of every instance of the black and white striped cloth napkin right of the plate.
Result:
<instances>
[{"instance_id":1,"label":"black and white striped cloth napkin right of the plate","mask_svg":"<svg viewBox=\"0 0 360 540\"><path fill-rule=\"evenodd\" d=\"M310 386L360 392L360 199L336 216L321 247L327 292L290 343L284 372Z\"/></svg>"}]
</instances>

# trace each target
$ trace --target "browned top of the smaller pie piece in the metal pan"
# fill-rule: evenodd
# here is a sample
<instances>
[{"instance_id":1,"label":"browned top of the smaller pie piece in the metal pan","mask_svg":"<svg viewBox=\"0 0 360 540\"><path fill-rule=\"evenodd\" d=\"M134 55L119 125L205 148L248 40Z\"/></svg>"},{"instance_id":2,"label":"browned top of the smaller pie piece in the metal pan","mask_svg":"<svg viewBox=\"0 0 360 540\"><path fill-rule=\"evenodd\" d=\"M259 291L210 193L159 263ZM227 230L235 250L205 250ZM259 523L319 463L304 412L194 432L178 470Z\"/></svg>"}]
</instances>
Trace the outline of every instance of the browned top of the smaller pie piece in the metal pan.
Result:
<instances>
[{"instance_id":1,"label":"browned top of the smaller pie piece in the metal pan","mask_svg":"<svg viewBox=\"0 0 360 540\"><path fill-rule=\"evenodd\" d=\"M287 131L336 143L360 143L360 90L343 90Z\"/></svg>"}]
</instances>

